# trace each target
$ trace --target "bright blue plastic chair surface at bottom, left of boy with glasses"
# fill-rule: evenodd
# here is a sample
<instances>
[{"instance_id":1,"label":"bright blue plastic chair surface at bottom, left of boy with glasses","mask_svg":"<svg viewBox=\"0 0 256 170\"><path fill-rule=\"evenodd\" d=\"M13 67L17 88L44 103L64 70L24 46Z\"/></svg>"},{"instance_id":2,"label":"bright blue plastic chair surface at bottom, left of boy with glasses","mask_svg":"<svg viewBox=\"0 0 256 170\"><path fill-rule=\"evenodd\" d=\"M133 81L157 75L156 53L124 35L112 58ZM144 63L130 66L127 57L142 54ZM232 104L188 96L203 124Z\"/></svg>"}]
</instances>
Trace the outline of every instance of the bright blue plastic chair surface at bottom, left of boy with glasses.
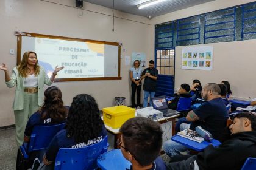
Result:
<instances>
[{"instance_id":1,"label":"bright blue plastic chair surface at bottom, left of boy with glasses","mask_svg":"<svg viewBox=\"0 0 256 170\"><path fill-rule=\"evenodd\" d=\"M132 165L130 161L124 158L120 149L113 149L104 154L101 154L97 159L97 165L102 170L113 170L113 169L130 169Z\"/></svg>"}]
</instances>

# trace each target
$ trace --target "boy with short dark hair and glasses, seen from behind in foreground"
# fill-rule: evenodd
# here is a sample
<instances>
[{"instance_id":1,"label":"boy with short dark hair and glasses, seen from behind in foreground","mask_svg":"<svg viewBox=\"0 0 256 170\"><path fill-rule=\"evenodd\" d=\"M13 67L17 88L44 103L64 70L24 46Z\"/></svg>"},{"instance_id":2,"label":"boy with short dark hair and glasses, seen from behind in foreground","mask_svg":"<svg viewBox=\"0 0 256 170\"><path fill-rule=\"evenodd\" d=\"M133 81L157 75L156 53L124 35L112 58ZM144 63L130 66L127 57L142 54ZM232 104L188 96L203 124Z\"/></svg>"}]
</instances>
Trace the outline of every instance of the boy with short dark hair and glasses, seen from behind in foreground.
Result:
<instances>
[{"instance_id":1,"label":"boy with short dark hair and glasses, seen from behind in foreground","mask_svg":"<svg viewBox=\"0 0 256 170\"><path fill-rule=\"evenodd\" d=\"M127 120L119 130L121 152L132 163L133 170L165 170L165 163L158 157L162 148L163 131L158 122L145 117Z\"/></svg>"}]
</instances>

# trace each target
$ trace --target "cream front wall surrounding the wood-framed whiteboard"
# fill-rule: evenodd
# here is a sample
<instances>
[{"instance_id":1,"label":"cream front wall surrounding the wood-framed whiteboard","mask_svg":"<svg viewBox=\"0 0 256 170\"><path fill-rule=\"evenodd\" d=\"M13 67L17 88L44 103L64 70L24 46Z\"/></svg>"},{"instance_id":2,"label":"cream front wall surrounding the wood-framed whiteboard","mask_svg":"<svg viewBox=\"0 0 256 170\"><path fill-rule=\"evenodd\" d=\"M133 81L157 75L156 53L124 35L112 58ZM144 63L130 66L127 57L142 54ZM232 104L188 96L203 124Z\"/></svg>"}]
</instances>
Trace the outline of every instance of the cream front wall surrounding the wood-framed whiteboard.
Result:
<instances>
[{"instance_id":1,"label":"cream front wall surrounding the wood-framed whiteboard","mask_svg":"<svg viewBox=\"0 0 256 170\"><path fill-rule=\"evenodd\" d=\"M93 95L100 109L113 106L117 96L126 97L126 104L130 105L130 66L125 66L124 56L144 52L147 57L154 57L149 53L149 46L153 43L149 36L149 20L115 10L115 31L112 32L112 9L87 2L84 2L83 9L77 9L74 0L0 1L1 63L7 64L9 72L16 66L15 31L122 42L122 80L59 82L52 86L62 90L66 105L70 105L73 97L80 93ZM15 55L9 54L10 49L15 49ZM0 80L1 127L15 124L12 110L15 88L9 89L5 85L2 71Z\"/></svg>"}]
</instances>

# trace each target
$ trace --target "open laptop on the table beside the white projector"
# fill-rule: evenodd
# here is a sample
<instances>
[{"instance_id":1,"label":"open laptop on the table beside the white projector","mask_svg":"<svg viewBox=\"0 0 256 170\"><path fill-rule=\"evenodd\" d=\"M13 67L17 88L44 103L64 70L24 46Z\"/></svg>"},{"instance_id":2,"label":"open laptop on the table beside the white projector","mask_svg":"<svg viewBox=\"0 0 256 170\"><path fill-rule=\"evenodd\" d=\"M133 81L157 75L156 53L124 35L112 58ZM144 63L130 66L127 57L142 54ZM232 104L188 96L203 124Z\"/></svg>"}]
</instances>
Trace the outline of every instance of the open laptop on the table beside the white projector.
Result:
<instances>
[{"instance_id":1,"label":"open laptop on the table beside the white projector","mask_svg":"<svg viewBox=\"0 0 256 170\"><path fill-rule=\"evenodd\" d=\"M151 98L153 107L156 110L163 112L164 117L170 117L172 115L180 114L180 112L172 109L168 109L165 96L158 96Z\"/></svg>"}]
</instances>

